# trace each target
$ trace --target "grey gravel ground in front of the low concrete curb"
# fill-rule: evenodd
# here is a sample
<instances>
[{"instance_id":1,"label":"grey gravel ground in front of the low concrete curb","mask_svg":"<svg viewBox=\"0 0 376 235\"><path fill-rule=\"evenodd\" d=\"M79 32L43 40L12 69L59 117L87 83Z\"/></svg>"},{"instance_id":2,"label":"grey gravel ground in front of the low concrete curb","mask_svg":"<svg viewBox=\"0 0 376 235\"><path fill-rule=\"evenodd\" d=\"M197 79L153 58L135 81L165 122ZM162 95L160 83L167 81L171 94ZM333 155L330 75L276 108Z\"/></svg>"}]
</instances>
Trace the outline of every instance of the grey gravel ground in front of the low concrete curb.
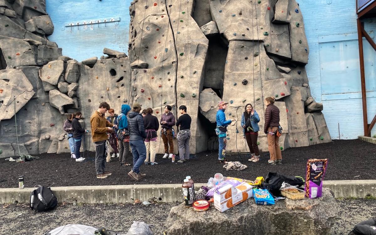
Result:
<instances>
[{"instance_id":1,"label":"grey gravel ground in front of the low concrete curb","mask_svg":"<svg viewBox=\"0 0 376 235\"><path fill-rule=\"evenodd\" d=\"M376 200L337 200L340 217L331 235L347 235L359 222L376 217ZM155 235L163 234L164 221L178 203L144 205L59 205L54 211L36 213L27 205L0 206L0 234L41 235L65 224L85 224L127 232L133 221L151 224Z\"/></svg>"}]
</instances>

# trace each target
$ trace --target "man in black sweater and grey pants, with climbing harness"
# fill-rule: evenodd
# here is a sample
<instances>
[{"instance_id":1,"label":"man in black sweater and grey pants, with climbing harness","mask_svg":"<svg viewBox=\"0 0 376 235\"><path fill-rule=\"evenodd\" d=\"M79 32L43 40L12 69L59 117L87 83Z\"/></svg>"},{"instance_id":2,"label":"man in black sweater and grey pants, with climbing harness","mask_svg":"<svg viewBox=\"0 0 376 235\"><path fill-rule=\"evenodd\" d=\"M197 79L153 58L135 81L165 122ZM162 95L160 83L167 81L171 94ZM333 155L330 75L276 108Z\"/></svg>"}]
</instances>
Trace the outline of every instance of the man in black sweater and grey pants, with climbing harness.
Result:
<instances>
[{"instance_id":1,"label":"man in black sweater and grey pants, with climbing harness","mask_svg":"<svg viewBox=\"0 0 376 235\"><path fill-rule=\"evenodd\" d=\"M179 130L177 133L177 145L179 147L179 163L189 160L189 140L191 138L191 122L192 118L186 113L187 107L182 105L179 107L180 114L182 114L176 122L176 126Z\"/></svg>"}]
</instances>

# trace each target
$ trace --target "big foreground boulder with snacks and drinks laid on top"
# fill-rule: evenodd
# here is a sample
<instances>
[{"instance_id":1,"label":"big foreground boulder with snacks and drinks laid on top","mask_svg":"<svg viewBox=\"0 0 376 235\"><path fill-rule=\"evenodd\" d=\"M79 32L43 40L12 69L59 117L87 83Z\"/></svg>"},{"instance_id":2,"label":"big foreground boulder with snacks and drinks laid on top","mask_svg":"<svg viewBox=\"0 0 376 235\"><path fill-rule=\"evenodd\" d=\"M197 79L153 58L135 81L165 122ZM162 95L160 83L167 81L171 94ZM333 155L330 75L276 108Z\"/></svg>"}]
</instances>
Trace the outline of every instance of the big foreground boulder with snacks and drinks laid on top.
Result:
<instances>
[{"instance_id":1,"label":"big foreground boulder with snacks and drinks laid on top","mask_svg":"<svg viewBox=\"0 0 376 235\"><path fill-rule=\"evenodd\" d=\"M213 204L203 212L181 204L171 208L165 226L167 235L327 235L337 216L337 202L331 190L324 188L318 199L285 199L264 206L250 198L223 213Z\"/></svg>"}]
</instances>

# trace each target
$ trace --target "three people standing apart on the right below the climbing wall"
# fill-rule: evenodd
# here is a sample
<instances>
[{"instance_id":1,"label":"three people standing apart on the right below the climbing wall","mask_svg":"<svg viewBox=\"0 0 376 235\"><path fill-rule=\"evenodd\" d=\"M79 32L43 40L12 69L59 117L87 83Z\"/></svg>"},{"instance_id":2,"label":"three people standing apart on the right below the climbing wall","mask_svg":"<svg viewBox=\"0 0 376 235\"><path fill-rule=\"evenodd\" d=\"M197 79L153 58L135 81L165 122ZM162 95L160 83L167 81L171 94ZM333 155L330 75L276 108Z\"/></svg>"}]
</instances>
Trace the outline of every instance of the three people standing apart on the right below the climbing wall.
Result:
<instances>
[{"instance_id":1,"label":"three people standing apart on the right below the climbing wall","mask_svg":"<svg viewBox=\"0 0 376 235\"><path fill-rule=\"evenodd\" d=\"M274 105L275 98L267 97L264 100L266 106L265 109L265 124L264 133L267 135L268 150L270 153L270 159L268 163L271 165L282 164L282 153L279 147L279 136L282 133L282 128L279 124L279 109ZM218 135L218 160L220 162L226 162L226 143L227 143L227 126L231 124L235 119L226 120L224 111L227 109L226 102L220 102L218 104L218 112L216 115L217 127L215 132ZM257 144L258 132L260 130L258 123L260 117L252 104L247 104L243 115L241 116L241 126L243 127L243 135L246 139L249 147L251 158L248 159L252 162L258 162L260 159L260 152Z\"/></svg>"}]
</instances>

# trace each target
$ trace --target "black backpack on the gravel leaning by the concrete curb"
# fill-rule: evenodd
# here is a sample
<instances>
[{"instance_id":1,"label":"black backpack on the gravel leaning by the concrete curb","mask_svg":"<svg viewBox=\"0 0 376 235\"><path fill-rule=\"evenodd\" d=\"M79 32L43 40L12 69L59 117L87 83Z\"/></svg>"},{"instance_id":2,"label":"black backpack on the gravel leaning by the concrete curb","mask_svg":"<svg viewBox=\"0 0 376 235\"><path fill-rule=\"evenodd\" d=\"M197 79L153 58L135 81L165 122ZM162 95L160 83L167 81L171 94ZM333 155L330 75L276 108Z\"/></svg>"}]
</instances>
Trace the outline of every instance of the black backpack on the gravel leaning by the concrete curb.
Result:
<instances>
[{"instance_id":1,"label":"black backpack on the gravel leaning by the concrete curb","mask_svg":"<svg viewBox=\"0 0 376 235\"><path fill-rule=\"evenodd\" d=\"M58 205L56 196L50 187L39 186L30 193L30 208L34 211L52 210Z\"/></svg>"}]
</instances>

